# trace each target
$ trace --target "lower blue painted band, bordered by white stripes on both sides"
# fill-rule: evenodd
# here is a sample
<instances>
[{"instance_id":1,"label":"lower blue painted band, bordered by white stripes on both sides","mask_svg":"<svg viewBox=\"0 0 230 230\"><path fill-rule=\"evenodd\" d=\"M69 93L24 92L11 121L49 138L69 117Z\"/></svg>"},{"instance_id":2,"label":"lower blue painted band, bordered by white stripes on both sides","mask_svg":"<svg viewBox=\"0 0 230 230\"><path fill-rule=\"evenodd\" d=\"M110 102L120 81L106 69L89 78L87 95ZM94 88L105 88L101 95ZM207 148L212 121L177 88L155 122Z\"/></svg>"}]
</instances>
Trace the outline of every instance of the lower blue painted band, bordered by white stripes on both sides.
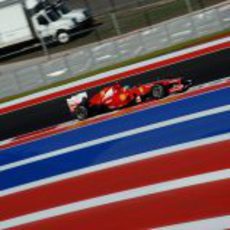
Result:
<instances>
[{"instance_id":1,"label":"lower blue painted band, bordered by white stripes on both sides","mask_svg":"<svg viewBox=\"0 0 230 230\"><path fill-rule=\"evenodd\" d=\"M230 131L230 112L110 141L1 173L0 189Z\"/></svg>"}]
</instances>

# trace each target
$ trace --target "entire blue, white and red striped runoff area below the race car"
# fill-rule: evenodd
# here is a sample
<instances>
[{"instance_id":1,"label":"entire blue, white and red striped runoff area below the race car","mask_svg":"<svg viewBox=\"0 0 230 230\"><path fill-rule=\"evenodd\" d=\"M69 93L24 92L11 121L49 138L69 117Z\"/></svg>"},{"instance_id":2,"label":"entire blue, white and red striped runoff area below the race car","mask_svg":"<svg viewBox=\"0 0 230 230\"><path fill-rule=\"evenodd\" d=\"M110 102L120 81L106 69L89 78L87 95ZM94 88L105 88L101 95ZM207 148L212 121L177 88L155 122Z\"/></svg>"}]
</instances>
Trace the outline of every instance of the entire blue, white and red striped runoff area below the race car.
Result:
<instances>
[{"instance_id":1,"label":"entire blue, white and red striped runoff area below the race car","mask_svg":"<svg viewBox=\"0 0 230 230\"><path fill-rule=\"evenodd\" d=\"M228 227L229 98L226 86L1 150L1 228Z\"/></svg>"}]
</instances>

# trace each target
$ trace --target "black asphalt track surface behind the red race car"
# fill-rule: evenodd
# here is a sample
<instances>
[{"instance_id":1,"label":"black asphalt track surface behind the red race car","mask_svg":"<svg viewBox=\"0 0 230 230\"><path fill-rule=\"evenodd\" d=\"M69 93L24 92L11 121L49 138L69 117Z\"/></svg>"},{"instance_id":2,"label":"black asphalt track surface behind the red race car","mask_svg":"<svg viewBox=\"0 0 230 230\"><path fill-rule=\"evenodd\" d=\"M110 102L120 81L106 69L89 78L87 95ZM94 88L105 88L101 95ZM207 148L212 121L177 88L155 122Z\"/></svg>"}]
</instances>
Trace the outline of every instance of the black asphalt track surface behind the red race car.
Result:
<instances>
[{"instance_id":1,"label":"black asphalt track surface behind the red race car","mask_svg":"<svg viewBox=\"0 0 230 230\"><path fill-rule=\"evenodd\" d=\"M199 85L230 76L229 61L230 49L226 49L125 78L121 80L121 84L132 86L153 80L184 77L186 79L192 79L194 85ZM112 84L112 82L110 84ZM86 90L89 96L92 96L104 86L105 85ZM1 116L0 140L74 119L66 105L66 98L69 96L70 95L66 95L52 101L47 101Z\"/></svg>"}]
</instances>

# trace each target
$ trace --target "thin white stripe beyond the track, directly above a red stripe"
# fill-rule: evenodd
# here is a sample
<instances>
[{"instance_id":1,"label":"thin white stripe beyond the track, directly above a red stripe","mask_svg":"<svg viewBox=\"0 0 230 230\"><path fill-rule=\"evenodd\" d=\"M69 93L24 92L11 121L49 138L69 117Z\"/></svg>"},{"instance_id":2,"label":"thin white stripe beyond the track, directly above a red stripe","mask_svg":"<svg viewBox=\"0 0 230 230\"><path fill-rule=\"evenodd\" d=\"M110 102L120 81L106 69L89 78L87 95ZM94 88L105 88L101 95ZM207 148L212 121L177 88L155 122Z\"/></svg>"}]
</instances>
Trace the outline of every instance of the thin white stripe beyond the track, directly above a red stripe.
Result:
<instances>
[{"instance_id":1,"label":"thin white stripe beyond the track, directly above a red stripe","mask_svg":"<svg viewBox=\"0 0 230 230\"><path fill-rule=\"evenodd\" d=\"M168 59L171 59L171 58L174 58L174 57L179 57L179 56L182 56L182 55L187 54L187 53L193 53L193 52L196 52L198 50L203 50L203 49L213 47L213 46L216 46L216 45L219 45L219 44L222 44L222 43L226 43L226 42L229 42L229 41L230 41L230 36L222 38L222 39L218 39L218 40L215 40L215 41L211 41L211 42L208 42L208 43L205 43L205 44L201 44L201 45L193 46L193 47L190 47L190 48L186 48L186 49L176 51L176 52L173 52L173 53L170 53L170 54L166 54L166 55L163 55L163 56L160 56L160 57L152 58L152 59L149 59L149 60L146 60L146 61L143 61L143 62L139 62L139 63L136 63L136 64L132 64L132 65L125 66L125 67L122 67L122 68L118 68L118 69L115 69L115 70L111 70L111 71L108 71L108 72L97 74L97 75L94 75L94 76L92 76L90 78L81 79L81 80L78 80L76 82L71 82L71 83L68 83L68 84L65 84L65 85L62 85L62 86L58 86L58 87L55 87L55 88L44 90L42 92L34 93L34 94L31 94L31 95L28 95L28 96L25 96L25 97L21 97L21 98L15 99L15 100L11 100L9 102L1 103L0 104L0 109L6 108L8 106L15 105L15 104L19 104L21 102L29 101L29 100L32 100L32 99L35 99L35 98L39 98L39 97L42 97L42 96L45 96L45 95L56 93L56 92L59 92L59 91L65 90L65 89L73 88L73 87L78 86L78 85L93 82L93 81L96 81L96 80L99 80L99 79L105 79L105 78L111 77L113 75L123 73L123 72L129 71L129 70L132 70L132 69L148 66L150 64L155 64L155 63L165 61L165 60L168 60Z\"/></svg>"}]
</instances>

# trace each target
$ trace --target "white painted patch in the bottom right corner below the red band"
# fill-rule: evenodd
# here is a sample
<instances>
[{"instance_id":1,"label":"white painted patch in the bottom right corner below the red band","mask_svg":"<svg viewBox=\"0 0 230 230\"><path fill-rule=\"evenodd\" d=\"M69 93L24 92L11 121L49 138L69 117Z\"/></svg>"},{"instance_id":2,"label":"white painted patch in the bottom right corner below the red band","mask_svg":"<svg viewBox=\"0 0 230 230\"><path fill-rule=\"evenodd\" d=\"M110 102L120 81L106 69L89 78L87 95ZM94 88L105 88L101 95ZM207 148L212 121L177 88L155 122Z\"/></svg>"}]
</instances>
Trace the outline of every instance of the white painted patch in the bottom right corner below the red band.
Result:
<instances>
[{"instance_id":1,"label":"white painted patch in the bottom right corner below the red band","mask_svg":"<svg viewBox=\"0 0 230 230\"><path fill-rule=\"evenodd\" d=\"M224 230L230 228L230 216L202 219L152 230Z\"/></svg>"}]
</instances>

